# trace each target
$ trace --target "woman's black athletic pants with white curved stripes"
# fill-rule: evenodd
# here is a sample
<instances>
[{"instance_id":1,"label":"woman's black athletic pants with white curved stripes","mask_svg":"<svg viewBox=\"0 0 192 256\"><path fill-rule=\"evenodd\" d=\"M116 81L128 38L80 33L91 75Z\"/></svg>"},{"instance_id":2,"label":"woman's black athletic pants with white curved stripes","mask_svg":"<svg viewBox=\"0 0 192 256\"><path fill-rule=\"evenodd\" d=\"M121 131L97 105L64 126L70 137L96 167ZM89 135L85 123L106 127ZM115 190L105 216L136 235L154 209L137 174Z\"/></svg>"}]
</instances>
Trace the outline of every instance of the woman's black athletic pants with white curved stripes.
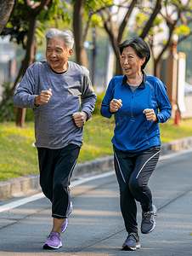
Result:
<instances>
[{"instance_id":1,"label":"woman's black athletic pants with white curved stripes","mask_svg":"<svg viewBox=\"0 0 192 256\"><path fill-rule=\"evenodd\" d=\"M143 212L152 210L152 195L148 182L155 170L160 152L161 146L135 153L123 152L114 146L120 207L128 234L138 233L136 201L140 202Z\"/></svg>"}]
</instances>

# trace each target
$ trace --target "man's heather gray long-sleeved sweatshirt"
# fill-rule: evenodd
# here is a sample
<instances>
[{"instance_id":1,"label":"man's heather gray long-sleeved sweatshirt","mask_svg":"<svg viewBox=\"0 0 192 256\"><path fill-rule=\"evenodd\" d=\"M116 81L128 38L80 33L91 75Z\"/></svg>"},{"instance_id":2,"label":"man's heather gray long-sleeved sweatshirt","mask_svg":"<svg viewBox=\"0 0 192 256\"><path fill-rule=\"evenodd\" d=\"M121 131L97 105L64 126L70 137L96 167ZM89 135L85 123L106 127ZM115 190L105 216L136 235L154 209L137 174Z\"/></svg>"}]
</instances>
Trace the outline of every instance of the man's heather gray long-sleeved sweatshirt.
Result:
<instances>
[{"instance_id":1,"label":"man's heather gray long-sleeved sweatshirt","mask_svg":"<svg viewBox=\"0 0 192 256\"><path fill-rule=\"evenodd\" d=\"M58 149L69 143L82 147L83 128L76 126L72 114L81 110L91 117L97 96L88 74L86 67L72 61L60 74L54 73L48 61L28 67L15 92L14 105L33 109L37 148ZM48 103L36 107L35 97L48 89L52 89Z\"/></svg>"}]
</instances>

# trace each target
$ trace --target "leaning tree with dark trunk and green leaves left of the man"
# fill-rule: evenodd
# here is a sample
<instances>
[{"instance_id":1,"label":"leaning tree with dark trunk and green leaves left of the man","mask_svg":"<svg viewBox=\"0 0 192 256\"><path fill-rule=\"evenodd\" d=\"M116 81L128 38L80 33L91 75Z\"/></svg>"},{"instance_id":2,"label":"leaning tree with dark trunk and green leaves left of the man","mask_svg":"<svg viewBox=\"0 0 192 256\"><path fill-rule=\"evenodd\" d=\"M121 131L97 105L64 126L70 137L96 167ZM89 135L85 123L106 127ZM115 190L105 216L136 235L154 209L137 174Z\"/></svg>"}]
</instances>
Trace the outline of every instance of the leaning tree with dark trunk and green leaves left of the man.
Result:
<instances>
[{"instance_id":1,"label":"leaning tree with dark trunk and green leaves left of the man","mask_svg":"<svg viewBox=\"0 0 192 256\"><path fill-rule=\"evenodd\" d=\"M0 109L5 102L14 95L14 90L22 79L27 67L29 67L35 61L35 54L37 49L37 39L35 35L42 34L43 24L37 27L37 20L43 23L46 20L52 20L57 16L63 18L63 20L69 21L69 16L63 13L63 5L59 8L59 0L52 2L52 0L42 0L40 2L34 2L31 6L30 0L19 0L17 9L14 10L14 14L11 16L6 28L2 32L2 36L11 35L11 40L14 40L17 44L22 44L25 49L25 58L21 63L20 71L17 78L14 81L14 85L11 90L8 91L7 97L3 99L0 104ZM65 16L65 18L64 18ZM39 22L40 23L40 22ZM23 126L23 115L25 110L19 109L17 113L18 125Z\"/></svg>"}]
</instances>

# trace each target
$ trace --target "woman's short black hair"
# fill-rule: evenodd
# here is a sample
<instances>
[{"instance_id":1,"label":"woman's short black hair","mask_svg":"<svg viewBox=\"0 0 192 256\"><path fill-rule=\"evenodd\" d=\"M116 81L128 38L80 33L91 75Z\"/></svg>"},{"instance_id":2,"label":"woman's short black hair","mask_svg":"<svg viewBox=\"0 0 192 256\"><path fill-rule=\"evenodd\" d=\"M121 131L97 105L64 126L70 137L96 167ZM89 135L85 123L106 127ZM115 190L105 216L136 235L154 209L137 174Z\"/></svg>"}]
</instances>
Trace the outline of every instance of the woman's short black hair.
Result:
<instances>
[{"instance_id":1,"label":"woman's short black hair","mask_svg":"<svg viewBox=\"0 0 192 256\"><path fill-rule=\"evenodd\" d=\"M147 62L150 61L150 46L144 41L144 39L134 37L119 45L120 54L122 54L123 49L128 46L132 47L136 51L139 58L143 59L145 57L144 64L141 66L141 69L144 69Z\"/></svg>"}]
</instances>

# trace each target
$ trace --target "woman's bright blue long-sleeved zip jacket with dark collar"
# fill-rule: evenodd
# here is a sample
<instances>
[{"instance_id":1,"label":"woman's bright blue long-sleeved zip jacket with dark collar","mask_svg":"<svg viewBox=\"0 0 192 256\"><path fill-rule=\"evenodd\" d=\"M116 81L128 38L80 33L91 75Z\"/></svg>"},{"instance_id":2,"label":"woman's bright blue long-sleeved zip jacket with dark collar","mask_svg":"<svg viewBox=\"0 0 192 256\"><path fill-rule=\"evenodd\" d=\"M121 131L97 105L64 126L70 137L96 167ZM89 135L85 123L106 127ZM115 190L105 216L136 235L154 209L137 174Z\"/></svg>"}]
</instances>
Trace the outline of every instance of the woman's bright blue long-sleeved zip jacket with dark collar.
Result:
<instances>
[{"instance_id":1,"label":"woman's bright blue long-sleeved zip jacket with dark collar","mask_svg":"<svg viewBox=\"0 0 192 256\"><path fill-rule=\"evenodd\" d=\"M160 79L146 76L133 92L127 84L126 76L117 76L110 80L102 105L101 114L111 118L110 102L121 99L122 107L114 113L116 127L111 142L122 151L137 152L161 145L158 123L170 118L172 107L167 97L167 89ZM145 108L153 108L157 121L148 121L143 113Z\"/></svg>"}]
</instances>

